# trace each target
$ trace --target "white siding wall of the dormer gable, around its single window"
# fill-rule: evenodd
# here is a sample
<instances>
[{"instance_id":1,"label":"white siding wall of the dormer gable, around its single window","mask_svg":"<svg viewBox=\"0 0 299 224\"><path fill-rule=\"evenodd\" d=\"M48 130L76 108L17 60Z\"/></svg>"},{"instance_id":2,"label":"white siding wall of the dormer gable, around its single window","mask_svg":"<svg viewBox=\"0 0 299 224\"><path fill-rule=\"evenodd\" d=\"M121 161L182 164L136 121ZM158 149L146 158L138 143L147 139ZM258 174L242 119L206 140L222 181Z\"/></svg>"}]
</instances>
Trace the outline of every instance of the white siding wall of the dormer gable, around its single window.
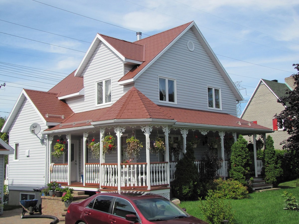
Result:
<instances>
[{"instance_id":1,"label":"white siding wall of the dormer gable, around its single window","mask_svg":"<svg viewBox=\"0 0 299 224\"><path fill-rule=\"evenodd\" d=\"M118 80L129 69L112 50L100 42L82 73L85 95L68 99L67 104L75 113L111 106L132 87L118 85ZM95 83L109 78L112 78L112 104L96 107Z\"/></svg>"}]
</instances>

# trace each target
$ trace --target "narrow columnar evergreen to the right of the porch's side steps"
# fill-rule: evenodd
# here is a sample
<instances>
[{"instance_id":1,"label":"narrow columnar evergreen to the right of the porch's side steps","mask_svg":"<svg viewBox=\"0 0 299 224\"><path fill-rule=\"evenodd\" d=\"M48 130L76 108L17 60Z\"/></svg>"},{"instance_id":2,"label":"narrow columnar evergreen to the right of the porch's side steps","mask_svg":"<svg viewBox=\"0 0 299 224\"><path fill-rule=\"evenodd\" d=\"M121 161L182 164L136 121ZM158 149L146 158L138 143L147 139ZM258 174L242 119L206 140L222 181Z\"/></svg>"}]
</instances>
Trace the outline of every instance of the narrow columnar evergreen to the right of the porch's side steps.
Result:
<instances>
[{"instance_id":1,"label":"narrow columnar evergreen to the right of the porch's side steps","mask_svg":"<svg viewBox=\"0 0 299 224\"><path fill-rule=\"evenodd\" d=\"M280 161L277 159L274 150L274 141L270 135L266 138L266 148L265 148L265 180L266 183L273 184L274 187L277 186L277 178L283 174Z\"/></svg>"}]
</instances>

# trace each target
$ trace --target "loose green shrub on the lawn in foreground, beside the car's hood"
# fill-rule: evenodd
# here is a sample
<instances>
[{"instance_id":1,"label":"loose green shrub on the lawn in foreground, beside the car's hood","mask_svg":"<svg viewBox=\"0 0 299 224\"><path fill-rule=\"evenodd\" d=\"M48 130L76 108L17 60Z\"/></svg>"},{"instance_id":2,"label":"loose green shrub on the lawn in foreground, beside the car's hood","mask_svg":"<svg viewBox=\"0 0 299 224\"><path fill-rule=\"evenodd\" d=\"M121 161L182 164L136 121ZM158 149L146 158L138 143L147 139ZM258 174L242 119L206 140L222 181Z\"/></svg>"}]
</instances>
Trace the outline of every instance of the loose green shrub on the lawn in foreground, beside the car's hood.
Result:
<instances>
[{"instance_id":1,"label":"loose green shrub on the lawn in foreground, beside the car's hood","mask_svg":"<svg viewBox=\"0 0 299 224\"><path fill-rule=\"evenodd\" d=\"M224 203L223 199L219 199L211 190L205 197L206 201L200 200L200 208L202 209L205 220L211 224L222 223L223 220L228 220L228 223L234 223L234 213L231 211L230 202Z\"/></svg>"}]
</instances>

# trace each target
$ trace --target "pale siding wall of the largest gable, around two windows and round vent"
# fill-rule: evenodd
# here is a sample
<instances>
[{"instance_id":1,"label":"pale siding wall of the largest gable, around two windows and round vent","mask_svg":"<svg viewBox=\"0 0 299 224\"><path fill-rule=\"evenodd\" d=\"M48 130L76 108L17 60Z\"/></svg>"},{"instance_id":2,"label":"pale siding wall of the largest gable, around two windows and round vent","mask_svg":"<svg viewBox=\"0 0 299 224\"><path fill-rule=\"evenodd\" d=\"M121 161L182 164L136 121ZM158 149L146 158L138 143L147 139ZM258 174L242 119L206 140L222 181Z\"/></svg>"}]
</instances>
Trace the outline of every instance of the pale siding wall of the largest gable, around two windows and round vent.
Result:
<instances>
[{"instance_id":1,"label":"pale siding wall of the largest gable, around two windows and round vent","mask_svg":"<svg viewBox=\"0 0 299 224\"><path fill-rule=\"evenodd\" d=\"M194 51L187 48L189 40L195 45ZM158 76L176 79L177 105L159 102ZM135 87L158 105L198 110L210 110L207 86L221 88L221 112L236 115L234 93L191 30L187 31L135 82Z\"/></svg>"}]
</instances>

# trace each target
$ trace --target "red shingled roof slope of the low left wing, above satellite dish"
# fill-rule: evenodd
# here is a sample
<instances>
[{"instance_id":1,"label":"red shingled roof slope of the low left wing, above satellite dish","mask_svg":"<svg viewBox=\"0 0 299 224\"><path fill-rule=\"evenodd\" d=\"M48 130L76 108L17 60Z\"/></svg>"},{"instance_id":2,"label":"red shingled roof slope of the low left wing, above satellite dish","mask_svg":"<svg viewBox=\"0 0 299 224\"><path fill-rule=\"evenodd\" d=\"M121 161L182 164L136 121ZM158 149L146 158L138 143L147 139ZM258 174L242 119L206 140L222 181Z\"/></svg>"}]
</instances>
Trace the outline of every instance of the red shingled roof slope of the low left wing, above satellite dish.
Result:
<instances>
[{"instance_id":1,"label":"red shingled roof slope of the low left wing, above satellite dish","mask_svg":"<svg viewBox=\"0 0 299 224\"><path fill-rule=\"evenodd\" d=\"M74 113L65 102L57 98L56 93L28 89L24 89L24 91L47 122L63 122ZM46 114L64 115L64 119L56 116L46 117Z\"/></svg>"}]
</instances>

